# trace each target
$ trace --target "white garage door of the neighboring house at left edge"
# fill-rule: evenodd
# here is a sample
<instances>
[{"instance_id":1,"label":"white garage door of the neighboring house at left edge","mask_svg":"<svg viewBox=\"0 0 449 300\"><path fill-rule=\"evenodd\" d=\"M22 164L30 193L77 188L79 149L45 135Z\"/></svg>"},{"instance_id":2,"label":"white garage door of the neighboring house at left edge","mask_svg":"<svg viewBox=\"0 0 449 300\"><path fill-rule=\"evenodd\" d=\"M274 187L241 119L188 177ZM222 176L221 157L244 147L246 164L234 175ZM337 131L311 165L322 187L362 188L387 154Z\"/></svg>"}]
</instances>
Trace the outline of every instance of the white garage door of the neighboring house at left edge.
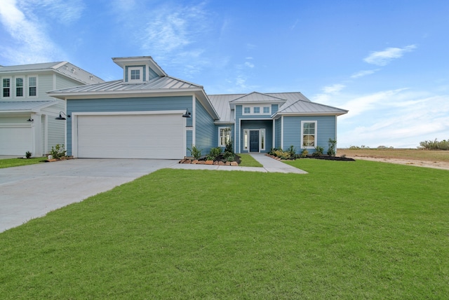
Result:
<instances>
[{"instance_id":1,"label":"white garage door of the neighboring house at left edge","mask_svg":"<svg viewBox=\"0 0 449 300\"><path fill-rule=\"evenodd\" d=\"M32 151L31 127L0 127L0 155L25 156Z\"/></svg>"}]
</instances>

